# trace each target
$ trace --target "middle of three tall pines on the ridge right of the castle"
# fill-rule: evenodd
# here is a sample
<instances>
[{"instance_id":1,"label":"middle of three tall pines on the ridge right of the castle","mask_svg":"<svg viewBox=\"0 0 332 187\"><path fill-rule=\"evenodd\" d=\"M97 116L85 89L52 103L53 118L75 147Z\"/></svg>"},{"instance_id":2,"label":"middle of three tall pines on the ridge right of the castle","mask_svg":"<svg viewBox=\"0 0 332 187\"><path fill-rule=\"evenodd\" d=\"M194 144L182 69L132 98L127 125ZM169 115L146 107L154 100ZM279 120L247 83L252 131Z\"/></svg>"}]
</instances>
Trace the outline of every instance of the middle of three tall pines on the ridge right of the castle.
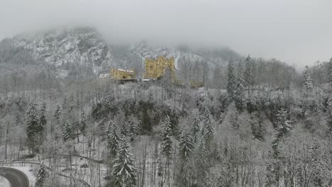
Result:
<instances>
[{"instance_id":1,"label":"middle of three tall pines on the ridge right of the castle","mask_svg":"<svg viewBox=\"0 0 332 187\"><path fill-rule=\"evenodd\" d=\"M243 111L243 108L245 107L245 99L244 99L244 85L245 80L243 78L243 64L242 62L238 63L238 82L236 85L236 108L238 108L238 111Z\"/></svg>"}]
</instances>

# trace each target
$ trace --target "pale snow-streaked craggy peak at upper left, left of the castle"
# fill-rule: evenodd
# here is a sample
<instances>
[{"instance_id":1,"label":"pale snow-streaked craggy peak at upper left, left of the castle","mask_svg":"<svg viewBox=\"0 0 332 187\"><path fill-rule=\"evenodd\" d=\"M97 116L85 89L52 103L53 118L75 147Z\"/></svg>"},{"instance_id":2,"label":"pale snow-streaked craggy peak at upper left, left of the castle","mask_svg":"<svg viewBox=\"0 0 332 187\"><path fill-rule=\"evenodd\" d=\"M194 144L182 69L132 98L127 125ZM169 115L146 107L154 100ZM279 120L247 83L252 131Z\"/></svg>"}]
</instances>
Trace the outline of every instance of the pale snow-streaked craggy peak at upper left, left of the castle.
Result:
<instances>
[{"instance_id":1,"label":"pale snow-streaked craggy peak at upper left, left of the castle","mask_svg":"<svg viewBox=\"0 0 332 187\"><path fill-rule=\"evenodd\" d=\"M114 66L111 47L94 28L67 28L32 36L18 35L13 38L13 43L31 51L35 60L55 67L89 64L98 74L102 67Z\"/></svg>"}]
</instances>

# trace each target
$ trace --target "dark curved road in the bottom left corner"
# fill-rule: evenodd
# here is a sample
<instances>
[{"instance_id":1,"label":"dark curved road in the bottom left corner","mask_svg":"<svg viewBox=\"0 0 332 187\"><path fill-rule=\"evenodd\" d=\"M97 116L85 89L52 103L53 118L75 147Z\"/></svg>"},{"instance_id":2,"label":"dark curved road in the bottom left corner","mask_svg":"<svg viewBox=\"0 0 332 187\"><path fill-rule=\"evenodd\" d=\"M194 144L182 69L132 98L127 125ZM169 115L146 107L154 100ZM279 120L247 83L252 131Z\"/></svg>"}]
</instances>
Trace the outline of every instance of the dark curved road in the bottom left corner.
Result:
<instances>
[{"instance_id":1,"label":"dark curved road in the bottom left corner","mask_svg":"<svg viewBox=\"0 0 332 187\"><path fill-rule=\"evenodd\" d=\"M0 175L4 176L9 183L11 183L11 187L29 187L29 179L26 174L17 169L1 167Z\"/></svg>"}]
</instances>

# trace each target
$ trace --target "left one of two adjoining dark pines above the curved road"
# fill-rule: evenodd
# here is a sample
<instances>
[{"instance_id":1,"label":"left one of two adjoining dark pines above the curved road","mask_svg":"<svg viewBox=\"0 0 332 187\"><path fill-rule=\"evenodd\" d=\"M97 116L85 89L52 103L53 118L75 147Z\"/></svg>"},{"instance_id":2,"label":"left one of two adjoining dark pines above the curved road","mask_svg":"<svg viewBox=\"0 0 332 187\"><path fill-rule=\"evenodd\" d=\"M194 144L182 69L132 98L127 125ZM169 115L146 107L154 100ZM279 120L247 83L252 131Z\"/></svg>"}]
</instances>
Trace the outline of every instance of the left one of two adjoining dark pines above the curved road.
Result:
<instances>
[{"instance_id":1,"label":"left one of two adjoining dark pines above the curved road","mask_svg":"<svg viewBox=\"0 0 332 187\"><path fill-rule=\"evenodd\" d=\"M28 135L28 147L32 150L32 153L35 154L35 151L38 151L36 147L38 147L40 131L37 103L35 103L35 100L29 102L28 112L26 115L26 134Z\"/></svg>"}]
</instances>

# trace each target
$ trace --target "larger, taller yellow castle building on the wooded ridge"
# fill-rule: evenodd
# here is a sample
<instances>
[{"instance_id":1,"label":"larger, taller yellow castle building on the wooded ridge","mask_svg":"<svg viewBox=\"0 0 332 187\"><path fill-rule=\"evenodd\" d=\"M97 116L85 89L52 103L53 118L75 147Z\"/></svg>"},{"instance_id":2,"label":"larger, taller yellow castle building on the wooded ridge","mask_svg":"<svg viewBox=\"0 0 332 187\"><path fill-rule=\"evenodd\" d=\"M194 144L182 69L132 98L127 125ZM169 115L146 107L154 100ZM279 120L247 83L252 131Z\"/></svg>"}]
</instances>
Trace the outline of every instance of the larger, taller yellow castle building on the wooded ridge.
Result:
<instances>
[{"instance_id":1,"label":"larger, taller yellow castle building on the wooded ridge","mask_svg":"<svg viewBox=\"0 0 332 187\"><path fill-rule=\"evenodd\" d=\"M175 81L175 60L174 57L157 57L155 59L145 58L146 79L157 79L161 77L167 67L170 67L172 81Z\"/></svg>"}]
</instances>

